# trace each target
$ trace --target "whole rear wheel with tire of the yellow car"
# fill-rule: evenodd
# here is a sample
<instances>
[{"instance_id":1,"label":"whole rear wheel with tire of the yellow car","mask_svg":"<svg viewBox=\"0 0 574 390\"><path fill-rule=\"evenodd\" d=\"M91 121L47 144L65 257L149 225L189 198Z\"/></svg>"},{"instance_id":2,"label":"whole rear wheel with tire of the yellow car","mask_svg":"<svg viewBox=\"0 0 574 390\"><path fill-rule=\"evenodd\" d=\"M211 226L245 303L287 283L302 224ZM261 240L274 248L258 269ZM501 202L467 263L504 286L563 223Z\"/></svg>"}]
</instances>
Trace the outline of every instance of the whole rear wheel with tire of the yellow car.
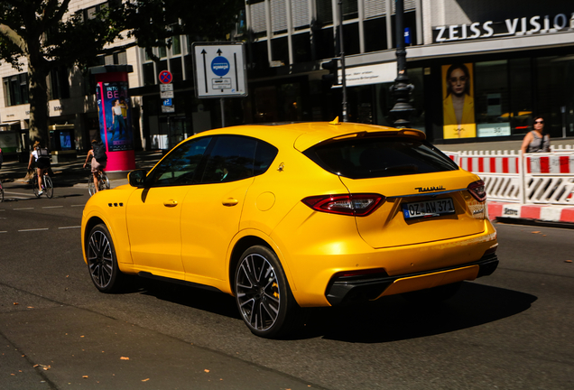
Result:
<instances>
[{"instance_id":1,"label":"whole rear wheel with tire of the yellow car","mask_svg":"<svg viewBox=\"0 0 574 390\"><path fill-rule=\"evenodd\" d=\"M234 293L241 318L256 336L276 339L297 325L301 308L271 249L252 246L241 255Z\"/></svg>"}]
</instances>

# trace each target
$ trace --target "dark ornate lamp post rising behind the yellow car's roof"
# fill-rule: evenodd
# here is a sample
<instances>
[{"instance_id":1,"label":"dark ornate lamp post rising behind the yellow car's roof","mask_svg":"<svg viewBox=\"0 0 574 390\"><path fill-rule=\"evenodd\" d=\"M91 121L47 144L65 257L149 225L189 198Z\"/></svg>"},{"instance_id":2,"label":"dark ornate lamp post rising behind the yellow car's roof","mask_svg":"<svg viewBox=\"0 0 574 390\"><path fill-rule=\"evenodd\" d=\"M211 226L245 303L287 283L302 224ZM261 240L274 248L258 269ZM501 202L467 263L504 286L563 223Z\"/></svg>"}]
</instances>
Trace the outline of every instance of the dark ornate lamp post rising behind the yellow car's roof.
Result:
<instances>
[{"instance_id":1,"label":"dark ornate lamp post rising behind the yellow car's roof","mask_svg":"<svg viewBox=\"0 0 574 390\"><path fill-rule=\"evenodd\" d=\"M396 98L396 103L391 110L393 116L397 119L394 121L395 127L410 127L411 116L414 108L409 103L411 96L412 84L409 83L409 77L406 73L406 50L404 49L404 28L403 28L403 14L404 4L403 0L395 0L395 15L394 22L396 27L396 64L397 64L397 77L394 79L394 85L391 86L391 93Z\"/></svg>"}]
</instances>

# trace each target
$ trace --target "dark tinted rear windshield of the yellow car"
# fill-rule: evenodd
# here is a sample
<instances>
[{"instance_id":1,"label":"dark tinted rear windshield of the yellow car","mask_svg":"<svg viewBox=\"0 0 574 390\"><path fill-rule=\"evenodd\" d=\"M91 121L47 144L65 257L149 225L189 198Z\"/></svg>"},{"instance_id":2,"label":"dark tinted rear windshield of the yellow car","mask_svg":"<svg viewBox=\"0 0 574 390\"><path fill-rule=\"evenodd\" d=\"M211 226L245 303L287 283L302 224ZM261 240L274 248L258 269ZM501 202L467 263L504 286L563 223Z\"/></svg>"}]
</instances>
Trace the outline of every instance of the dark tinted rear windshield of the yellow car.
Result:
<instances>
[{"instance_id":1,"label":"dark tinted rear windshield of the yellow car","mask_svg":"<svg viewBox=\"0 0 574 390\"><path fill-rule=\"evenodd\" d=\"M458 170L428 142L402 137L346 138L317 144L304 154L321 168L350 179Z\"/></svg>"}]
</instances>

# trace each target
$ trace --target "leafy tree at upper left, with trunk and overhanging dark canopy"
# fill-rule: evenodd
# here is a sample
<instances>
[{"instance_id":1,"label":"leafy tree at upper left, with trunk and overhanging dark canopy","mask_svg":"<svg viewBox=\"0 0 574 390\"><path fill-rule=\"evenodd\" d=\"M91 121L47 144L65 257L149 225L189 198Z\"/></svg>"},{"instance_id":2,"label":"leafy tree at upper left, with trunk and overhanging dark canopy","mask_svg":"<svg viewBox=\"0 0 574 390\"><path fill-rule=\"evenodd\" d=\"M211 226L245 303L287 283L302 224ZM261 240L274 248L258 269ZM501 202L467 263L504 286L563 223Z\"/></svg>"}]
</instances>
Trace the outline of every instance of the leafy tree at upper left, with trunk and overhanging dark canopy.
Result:
<instances>
[{"instance_id":1,"label":"leafy tree at upper left, with trunk and overhanging dark canopy","mask_svg":"<svg viewBox=\"0 0 574 390\"><path fill-rule=\"evenodd\" d=\"M86 68L106 43L133 36L151 53L171 36L222 38L230 32L242 0L110 0L94 18L67 13L69 0L0 0L0 58L15 69L28 66L30 140L48 136L51 70ZM123 36L125 32L125 36Z\"/></svg>"}]
</instances>

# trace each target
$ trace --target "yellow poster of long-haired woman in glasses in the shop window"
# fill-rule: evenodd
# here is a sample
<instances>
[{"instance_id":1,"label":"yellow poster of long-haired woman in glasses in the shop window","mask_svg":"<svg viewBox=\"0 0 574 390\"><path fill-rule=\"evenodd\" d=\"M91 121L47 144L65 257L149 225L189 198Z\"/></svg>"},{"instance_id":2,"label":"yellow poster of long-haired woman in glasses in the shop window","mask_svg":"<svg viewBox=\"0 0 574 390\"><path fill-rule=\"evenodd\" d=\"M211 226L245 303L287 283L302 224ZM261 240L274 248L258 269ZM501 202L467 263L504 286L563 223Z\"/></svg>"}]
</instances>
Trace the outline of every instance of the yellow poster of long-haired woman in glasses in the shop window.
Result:
<instances>
[{"instance_id":1,"label":"yellow poster of long-haired woman in glasses in the shop window","mask_svg":"<svg viewBox=\"0 0 574 390\"><path fill-rule=\"evenodd\" d=\"M475 102L472 89L472 64L442 66L445 80L442 88L443 135L449 138L477 136Z\"/></svg>"}]
</instances>

